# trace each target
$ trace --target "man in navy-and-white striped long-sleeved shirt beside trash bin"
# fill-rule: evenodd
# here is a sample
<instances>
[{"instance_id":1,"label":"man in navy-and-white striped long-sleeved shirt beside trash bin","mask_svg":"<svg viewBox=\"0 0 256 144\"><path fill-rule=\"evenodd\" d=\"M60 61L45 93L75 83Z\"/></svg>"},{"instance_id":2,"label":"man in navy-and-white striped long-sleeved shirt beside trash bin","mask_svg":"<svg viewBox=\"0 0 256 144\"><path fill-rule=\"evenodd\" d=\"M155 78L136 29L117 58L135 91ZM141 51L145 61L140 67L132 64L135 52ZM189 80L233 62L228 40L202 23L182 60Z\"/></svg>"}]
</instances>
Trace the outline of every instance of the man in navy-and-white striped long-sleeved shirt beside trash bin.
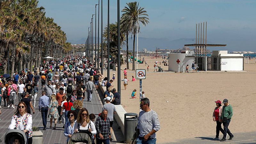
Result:
<instances>
[{"instance_id":1,"label":"man in navy-and-white striped long-sleeved shirt beside trash bin","mask_svg":"<svg viewBox=\"0 0 256 144\"><path fill-rule=\"evenodd\" d=\"M148 98L141 99L137 129L140 135L137 144L156 144L156 132L160 129L160 123L155 111L149 108Z\"/></svg>"}]
</instances>

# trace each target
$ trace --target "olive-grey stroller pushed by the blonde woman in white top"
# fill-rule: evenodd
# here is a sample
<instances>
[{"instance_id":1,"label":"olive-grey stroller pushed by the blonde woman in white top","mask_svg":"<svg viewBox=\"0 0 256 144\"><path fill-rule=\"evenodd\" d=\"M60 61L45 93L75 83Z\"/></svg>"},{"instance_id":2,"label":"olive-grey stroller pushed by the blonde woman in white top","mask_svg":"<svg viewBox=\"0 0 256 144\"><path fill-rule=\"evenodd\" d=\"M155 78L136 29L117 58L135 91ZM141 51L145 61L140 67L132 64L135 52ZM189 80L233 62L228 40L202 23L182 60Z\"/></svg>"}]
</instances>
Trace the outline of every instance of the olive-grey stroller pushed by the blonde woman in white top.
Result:
<instances>
[{"instance_id":1,"label":"olive-grey stroller pushed by the blonde woman in white top","mask_svg":"<svg viewBox=\"0 0 256 144\"><path fill-rule=\"evenodd\" d=\"M79 125L80 124L78 124L78 132L72 134L68 144L92 144L92 133L88 130L80 130Z\"/></svg>"}]
</instances>

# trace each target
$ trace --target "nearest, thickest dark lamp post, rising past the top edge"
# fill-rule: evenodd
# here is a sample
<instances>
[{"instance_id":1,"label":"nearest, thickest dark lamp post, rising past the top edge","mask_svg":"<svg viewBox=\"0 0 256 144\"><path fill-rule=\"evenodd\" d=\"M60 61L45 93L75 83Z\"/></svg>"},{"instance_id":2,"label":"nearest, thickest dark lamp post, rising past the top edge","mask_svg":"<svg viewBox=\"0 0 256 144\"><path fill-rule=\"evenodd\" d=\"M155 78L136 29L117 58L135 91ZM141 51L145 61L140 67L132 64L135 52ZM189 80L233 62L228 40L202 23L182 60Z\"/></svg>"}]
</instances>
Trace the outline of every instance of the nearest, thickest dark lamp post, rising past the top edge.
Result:
<instances>
[{"instance_id":1,"label":"nearest, thickest dark lamp post, rising past the top edge","mask_svg":"<svg viewBox=\"0 0 256 144\"><path fill-rule=\"evenodd\" d=\"M118 45L117 45L117 92L120 95L121 102L121 55L120 55L120 0L117 0L117 37L118 37Z\"/></svg>"}]
</instances>

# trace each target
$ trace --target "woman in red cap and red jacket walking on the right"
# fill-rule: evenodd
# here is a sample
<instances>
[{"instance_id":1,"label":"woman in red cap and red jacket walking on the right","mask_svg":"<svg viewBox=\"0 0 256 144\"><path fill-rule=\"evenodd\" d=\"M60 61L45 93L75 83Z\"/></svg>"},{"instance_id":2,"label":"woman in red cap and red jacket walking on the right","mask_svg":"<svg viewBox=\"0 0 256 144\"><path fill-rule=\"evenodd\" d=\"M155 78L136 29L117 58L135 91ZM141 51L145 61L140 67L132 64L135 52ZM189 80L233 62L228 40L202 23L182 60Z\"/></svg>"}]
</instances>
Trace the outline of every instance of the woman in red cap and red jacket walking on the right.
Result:
<instances>
[{"instance_id":1,"label":"woman in red cap and red jacket walking on the right","mask_svg":"<svg viewBox=\"0 0 256 144\"><path fill-rule=\"evenodd\" d=\"M222 132L222 134L224 134L224 130L221 128L221 122L220 122L220 116L221 116L221 113L222 113L222 107L221 107L221 101L220 100L217 100L215 101L216 103L216 108L214 108L213 110L213 114L212 114L212 118L213 118L213 121L217 123L217 126L216 126L216 137L214 138L214 140L219 140L219 134L220 132Z\"/></svg>"}]
</instances>

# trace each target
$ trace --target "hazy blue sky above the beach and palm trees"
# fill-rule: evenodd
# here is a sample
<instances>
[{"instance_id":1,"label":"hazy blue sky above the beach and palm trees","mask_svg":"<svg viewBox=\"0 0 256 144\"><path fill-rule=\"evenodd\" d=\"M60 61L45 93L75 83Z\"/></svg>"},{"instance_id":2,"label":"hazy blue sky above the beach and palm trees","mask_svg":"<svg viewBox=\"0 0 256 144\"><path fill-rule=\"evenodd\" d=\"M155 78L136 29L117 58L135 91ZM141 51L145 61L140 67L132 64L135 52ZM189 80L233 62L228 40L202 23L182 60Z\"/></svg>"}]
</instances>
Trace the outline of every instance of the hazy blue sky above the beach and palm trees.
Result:
<instances>
[{"instance_id":1,"label":"hazy blue sky above the beach and palm trees","mask_svg":"<svg viewBox=\"0 0 256 144\"><path fill-rule=\"evenodd\" d=\"M101 0L100 0L101 1ZM103 26L107 24L107 0L103 0ZM131 0L120 0L120 10ZM195 24L207 21L207 40L228 44L227 49L256 51L256 1L254 0L138 0L150 23L139 37L195 38ZM98 0L39 0L46 16L54 18L68 41L87 37ZM117 1L110 0L110 23L117 21ZM101 12L100 12L101 13ZM98 8L97 8L98 14ZM122 14L122 13L121 13ZM120 14L120 15L121 15ZM130 41L132 42L132 41Z\"/></svg>"}]
</instances>

